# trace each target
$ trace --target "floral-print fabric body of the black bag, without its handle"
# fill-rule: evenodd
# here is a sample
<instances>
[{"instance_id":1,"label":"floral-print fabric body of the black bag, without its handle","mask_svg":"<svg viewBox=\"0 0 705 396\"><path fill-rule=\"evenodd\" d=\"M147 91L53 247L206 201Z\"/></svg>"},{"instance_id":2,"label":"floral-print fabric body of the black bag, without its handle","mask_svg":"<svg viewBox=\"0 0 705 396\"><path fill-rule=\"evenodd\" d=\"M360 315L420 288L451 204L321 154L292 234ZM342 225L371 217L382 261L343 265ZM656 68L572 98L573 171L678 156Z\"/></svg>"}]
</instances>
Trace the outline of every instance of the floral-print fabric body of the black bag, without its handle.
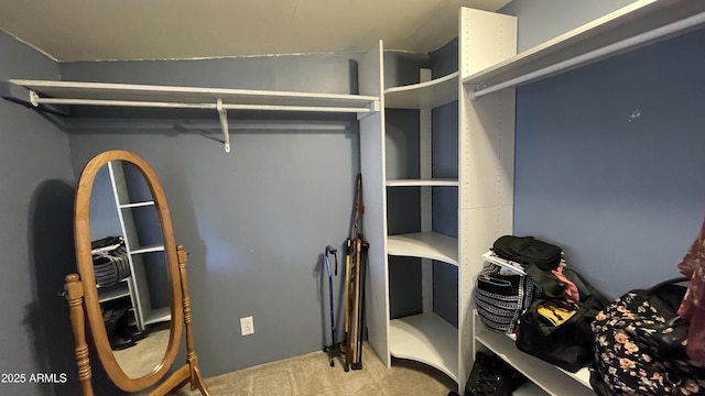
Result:
<instances>
[{"instance_id":1,"label":"floral-print fabric body of the black bag, without its handle","mask_svg":"<svg viewBox=\"0 0 705 396\"><path fill-rule=\"evenodd\" d=\"M597 381L615 395L705 395L705 372L696 363L659 355L650 334L669 332L665 321L633 292L599 312L592 324Z\"/></svg>"}]
</instances>

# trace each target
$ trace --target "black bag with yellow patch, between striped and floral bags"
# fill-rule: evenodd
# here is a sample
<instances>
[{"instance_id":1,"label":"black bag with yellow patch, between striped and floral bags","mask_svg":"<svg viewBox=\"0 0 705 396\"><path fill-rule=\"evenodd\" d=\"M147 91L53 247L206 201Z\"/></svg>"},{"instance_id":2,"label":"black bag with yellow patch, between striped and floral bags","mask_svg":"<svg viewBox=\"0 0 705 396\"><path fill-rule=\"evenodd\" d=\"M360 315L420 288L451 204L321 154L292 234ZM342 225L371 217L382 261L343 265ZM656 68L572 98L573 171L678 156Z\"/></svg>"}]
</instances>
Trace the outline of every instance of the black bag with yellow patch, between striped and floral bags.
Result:
<instances>
[{"instance_id":1,"label":"black bag with yellow patch, between striped and floral bags","mask_svg":"<svg viewBox=\"0 0 705 396\"><path fill-rule=\"evenodd\" d=\"M565 298L535 300L521 316L516 345L520 351L575 373L595 359L590 323L609 304L609 299L577 272L566 268L565 273L572 273L576 277L574 280L582 284L582 287L578 287L581 301L571 302ZM568 315L561 309L555 311L558 319L570 319L561 320L558 323L551 322L542 315L544 309L549 309L546 307L571 311Z\"/></svg>"}]
</instances>

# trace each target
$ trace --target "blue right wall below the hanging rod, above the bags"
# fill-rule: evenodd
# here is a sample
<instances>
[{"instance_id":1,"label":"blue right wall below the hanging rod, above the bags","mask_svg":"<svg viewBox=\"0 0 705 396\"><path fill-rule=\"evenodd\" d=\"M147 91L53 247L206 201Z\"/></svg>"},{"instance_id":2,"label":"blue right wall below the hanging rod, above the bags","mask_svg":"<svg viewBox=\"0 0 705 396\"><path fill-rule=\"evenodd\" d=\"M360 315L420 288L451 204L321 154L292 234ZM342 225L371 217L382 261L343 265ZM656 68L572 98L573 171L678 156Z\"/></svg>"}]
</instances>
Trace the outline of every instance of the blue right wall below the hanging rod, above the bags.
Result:
<instances>
[{"instance_id":1,"label":"blue right wall below the hanging rod, above the bags","mask_svg":"<svg viewBox=\"0 0 705 396\"><path fill-rule=\"evenodd\" d=\"M514 232L612 297L679 275L705 215L704 47L698 31L517 91Z\"/></svg>"}]
</instances>

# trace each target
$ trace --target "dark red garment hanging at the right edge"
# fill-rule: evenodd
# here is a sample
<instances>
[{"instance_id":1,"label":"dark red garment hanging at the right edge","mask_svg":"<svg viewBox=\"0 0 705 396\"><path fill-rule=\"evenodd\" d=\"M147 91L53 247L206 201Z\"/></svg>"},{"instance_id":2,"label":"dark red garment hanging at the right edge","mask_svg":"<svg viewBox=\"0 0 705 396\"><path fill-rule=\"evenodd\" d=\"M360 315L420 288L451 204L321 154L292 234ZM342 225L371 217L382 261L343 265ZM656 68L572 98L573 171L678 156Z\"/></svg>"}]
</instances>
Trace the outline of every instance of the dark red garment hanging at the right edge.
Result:
<instances>
[{"instance_id":1,"label":"dark red garment hanging at the right edge","mask_svg":"<svg viewBox=\"0 0 705 396\"><path fill-rule=\"evenodd\" d=\"M690 322L685 351L692 360L705 365L705 221L677 268L691 278L679 308L679 316Z\"/></svg>"}]
</instances>

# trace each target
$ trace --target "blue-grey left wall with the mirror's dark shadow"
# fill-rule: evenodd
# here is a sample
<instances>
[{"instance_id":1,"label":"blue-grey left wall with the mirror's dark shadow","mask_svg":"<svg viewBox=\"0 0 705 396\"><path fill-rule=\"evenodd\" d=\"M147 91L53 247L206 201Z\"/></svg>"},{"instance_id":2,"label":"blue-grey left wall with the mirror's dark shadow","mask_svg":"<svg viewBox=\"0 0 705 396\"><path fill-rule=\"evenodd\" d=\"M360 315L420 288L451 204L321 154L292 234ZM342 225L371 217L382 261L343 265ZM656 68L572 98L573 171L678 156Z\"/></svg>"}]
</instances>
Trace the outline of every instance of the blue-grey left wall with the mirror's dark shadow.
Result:
<instances>
[{"instance_id":1,"label":"blue-grey left wall with the mirror's dark shadow","mask_svg":"<svg viewBox=\"0 0 705 396\"><path fill-rule=\"evenodd\" d=\"M53 61L3 32L0 58L0 80L59 76ZM25 375L24 384L1 383L0 394L77 394L67 304L57 296L76 272L68 136L7 100L0 120L0 373ZM36 373L65 373L68 382L30 383Z\"/></svg>"}]
</instances>

